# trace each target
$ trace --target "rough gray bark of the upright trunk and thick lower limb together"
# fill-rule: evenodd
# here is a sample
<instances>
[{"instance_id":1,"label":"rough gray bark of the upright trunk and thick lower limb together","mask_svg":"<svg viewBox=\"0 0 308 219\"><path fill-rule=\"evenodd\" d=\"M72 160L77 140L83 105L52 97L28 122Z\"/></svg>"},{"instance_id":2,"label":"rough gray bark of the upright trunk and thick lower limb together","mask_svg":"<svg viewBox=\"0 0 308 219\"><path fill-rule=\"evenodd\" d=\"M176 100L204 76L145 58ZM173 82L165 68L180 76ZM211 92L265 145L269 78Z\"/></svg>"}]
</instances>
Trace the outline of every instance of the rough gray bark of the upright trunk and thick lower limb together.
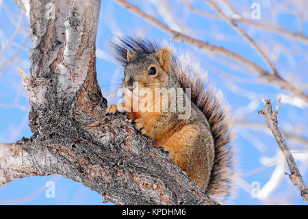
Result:
<instances>
[{"instance_id":1,"label":"rough gray bark of the upright trunk and thick lower limb together","mask_svg":"<svg viewBox=\"0 0 308 219\"><path fill-rule=\"evenodd\" d=\"M60 174L119 205L217 204L125 115L105 116L95 68L101 1L55 0L55 19L47 3L29 1L31 75L21 72L34 135L0 144L0 185Z\"/></svg>"}]
</instances>

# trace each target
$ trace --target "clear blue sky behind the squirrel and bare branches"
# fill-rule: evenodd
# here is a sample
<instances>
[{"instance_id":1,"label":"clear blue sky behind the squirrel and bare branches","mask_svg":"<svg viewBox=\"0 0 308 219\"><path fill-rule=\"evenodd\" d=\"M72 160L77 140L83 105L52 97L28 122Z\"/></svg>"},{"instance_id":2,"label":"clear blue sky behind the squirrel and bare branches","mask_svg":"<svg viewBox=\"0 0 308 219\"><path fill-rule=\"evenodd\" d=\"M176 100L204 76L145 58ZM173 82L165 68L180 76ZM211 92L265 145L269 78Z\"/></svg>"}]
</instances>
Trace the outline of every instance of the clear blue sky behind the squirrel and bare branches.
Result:
<instances>
[{"instance_id":1,"label":"clear blue sky behind the squirrel and bare branches","mask_svg":"<svg viewBox=\"0 0 308 219\"><path fill-rule=\"evenodd\" d=\"M0 0L1 2L1 0ZM223 46L226 49L235 51L238 54L252 60L257 65L268 69L264 61L259 58L258 54L253 50L246 41L239 36L227 23L214 19L207 19L189 12L179 1L169 1L172 4L173 15L177 17L175 23L172 22L164 14L157 12L155 1L151 3L142 1L130 1L135 5L140 6L142 10L149 14L155 15L159 21L179 27L182 32L191 34L196 38L200 38L205 42L213 45ZM232 3L234 1L231 1ZM286 9L281 10L279 15L274 14L275 7L281 5L271 5L268 1L238 1L235 6L241 11L242 8L251 10L250 5L253 2L258 2L261 5L261 20L260 22L271 22L272 25L279 25L282 28L292 32L298 32L298 17L287 12ZM278 1L283 4L284 1ZM194 1L194 6L206 12L213 12L205 3L205 1ZM4 50L6 43L10 41L11 36L15 32L15 25L12 21L20 21L23 30L27 30L27 22L24 16L20 15L20 10L16 5L9 0L3 0L0 4L0 58L3 52L3 58L0 59L0 67L3 62L8 60L18 50L18 45L24 47L8 65L0 69L0 142L14 142L21 137L31 137L31 130L27 126L27 113L29 104L27 102L27 93L21 86L21 77L16 71L16 67L21 67L24 71L29 72L29 56L27 51L31 48L31 40L25 34L16 34L10 45ZM20 19L21 18L21 19ZM185 25L184 25L185 24ZM274 65L281 73L283 78L293 80L294 83L308 83L307 69L307 45L300 41L293 41L289 38L279 36L257 30L253 27L242 26L248 34L251 34L258 43L268 44L270 54L276 58ZM303 25L304 34L308 35L307 23ZM253 76L245 67L241 67L234 60L210 56L205 52L187 45L185 43L175 43L170 40L168 34L157 29L153 25L147 23L138 16L122 8L114 1L102 1L101 14L99 21L99 29L97 34L97 76L99 84L103 90L103 95L107 97L108 103L116 103L117 98L112 99L109 93L114 87L114 84L120 83L120 78L123 77L123 69L118 67L108 56L109 51L107 42L114 39L115 34L134 34L153 38L159 43L168 43L174 45L177 50L183 53L190 54L192 60L199 62L201 67L208 72L208 78L216 87L221 89L224 97L231 106L231 115L242 120L264 123L264 116L258 115L257 111L263 108L261 100L263 98L271 99L273 103L277 101L277 96L287 94L277 87L272 87L267 84L256 83L257 78ZM260 45L261 45L260 44ZM289 50L281 48L286 47ZM288 52L291 54L288 54ZM306 64L306 65L305 65ZM218 72L224 71L228 73L230 80L223 78ZM248 82L233 82L231 76L236 76L247 80ZM279 125L285 130L296 132L298 135L307 138L307 123L308 112L307 108L296 107L291 104L281 104L279 109ZM302 127L303 130L300 130ZM304 127L304 128L303 128ZM298 131L297 131L298 129ZM307 145L298 143L290 143L294 150L307 149ZM238 148L238 168L243 174L246 181L246 189L253 188L251 183L257 181L261 187L266 185L270 180L274 169L277 165L266 166L266 159L273 159L279 153L279 149L274 138L264 131L236 129L234 146ZM282 158L283 159L283 158ZM307 160L306 163L298 160L298 166L304 175L307 182ZM255 170L254 174L249 174ZM288 169L286 169L288 170ZM46 183L53 181L55 183L55 198L47 198L45 187ZM277 200L288 200L293 205L305 205L305 202L300 197L287 176L284 176L280 181L279 186L271 193L274 203ZM46 176L46 177L29 177L12 181L5 187L0 187L0 205L103 205L103 198L93 192L88 187L84 187L81 183L75 183L61 176ZM259 198L253 198L250 192L245 191L242 185L239 185L237 195L229 204L232 205L264 205L264 201Z\"/></svg>"}]
</instances>

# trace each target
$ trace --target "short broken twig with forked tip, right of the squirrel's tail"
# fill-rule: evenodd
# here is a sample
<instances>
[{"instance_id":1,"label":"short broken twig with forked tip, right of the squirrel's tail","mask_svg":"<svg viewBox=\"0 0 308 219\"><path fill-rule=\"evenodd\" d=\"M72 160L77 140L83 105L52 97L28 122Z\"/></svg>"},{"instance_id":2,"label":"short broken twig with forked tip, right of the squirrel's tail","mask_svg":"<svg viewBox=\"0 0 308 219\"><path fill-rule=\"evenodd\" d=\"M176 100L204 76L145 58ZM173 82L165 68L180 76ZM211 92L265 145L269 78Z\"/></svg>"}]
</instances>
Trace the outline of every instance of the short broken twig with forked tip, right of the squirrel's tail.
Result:
<instances>
[{"instance_id":1,"label":"short broken twig with forked tip, right of the squirrel's tail","mask_svg":"<svg viewBox=\"0 0 308 219\"><path fill-rule=\"evenodd\" d=\"M283 136L281 135L281 132L278 128L278 121L277 121L277 114L278 114L278 108L279 108L279 102L277 102L276 109L274 113L272 112L272 104L270 103L270 100L262 100L264 102L264 110L259 111L259 114L263 114L266 116L266 122L268 123L268 127L272 131L272 134L274 135L277 143L279 144L279 147L281 151L283 152L283 155L285 156L285 159L287 161L287 164L289 165L291 174L287 174L290 177L290 180L292 183L298 188L300 191L300 195L303 196L303 199L305 202L308 203L308 187L303 181L303 177L300 174L300 171L298 170L295 160L292 156L292 153L290 152L289 148L287 147L285 143L285 139L283 139Z\"/></svg>"}]
</instances>

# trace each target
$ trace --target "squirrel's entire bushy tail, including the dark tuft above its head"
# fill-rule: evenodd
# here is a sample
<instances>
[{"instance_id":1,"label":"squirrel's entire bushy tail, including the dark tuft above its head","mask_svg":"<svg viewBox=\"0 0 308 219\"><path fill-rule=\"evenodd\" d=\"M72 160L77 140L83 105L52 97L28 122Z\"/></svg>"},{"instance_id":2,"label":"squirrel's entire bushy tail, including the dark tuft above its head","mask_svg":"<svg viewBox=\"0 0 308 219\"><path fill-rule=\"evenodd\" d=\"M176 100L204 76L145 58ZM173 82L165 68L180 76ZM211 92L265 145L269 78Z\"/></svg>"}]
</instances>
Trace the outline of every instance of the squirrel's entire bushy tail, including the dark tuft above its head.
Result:
<instances>
[{"instance_id":1,"label":"squirrel's entire bushy tail, including the dark tuft above its head","mask_svg":"<svg viewBox=\"0 0 308 219\"><path fill-rule=\"evenodd\" d=\"M126 36L118 37L118 43L112 43L114 57L120 65L127 65L127 49L133 54L152 54L160 47L153 41ZM222 199L230 196L232 191L231 177L233 176L233 150L229 146L231 141L231 122L226 118L227 104L222 101L220 91L216 91L207 83L207 74L194 66L190 59L175 56L172 52L172 69L183 88L190 88L192 101L203 111L211 126L214 137L215 159L211 171L211 178L207 194ZM185 91L185 89L184 89Z\"/></svg>"}]
</instances>

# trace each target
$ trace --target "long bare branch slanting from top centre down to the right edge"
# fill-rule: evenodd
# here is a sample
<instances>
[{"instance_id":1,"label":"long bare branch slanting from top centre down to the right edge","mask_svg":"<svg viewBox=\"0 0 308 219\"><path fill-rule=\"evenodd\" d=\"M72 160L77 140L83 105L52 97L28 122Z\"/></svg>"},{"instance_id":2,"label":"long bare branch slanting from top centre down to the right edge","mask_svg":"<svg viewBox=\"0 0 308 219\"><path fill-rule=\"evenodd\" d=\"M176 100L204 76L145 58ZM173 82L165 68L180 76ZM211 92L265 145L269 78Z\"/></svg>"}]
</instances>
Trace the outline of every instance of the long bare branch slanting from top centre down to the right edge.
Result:
<instances>
[{"instance_id":1,"label":"long bare branch slanting from top centre down to the right edge","mask_svg":"<svg viewBox=\"0 0 308 219\"><path fill-rule=\"evenodd\" d=\"M228 49L224 49L223 47L217 47L215 45L211 45L210 43L200 41L196 38L192 38L191 36L187 36L185 34L172 30L164 23L155 19L155 17L146 14L145 12L140 10L140 8L136 7L136 5L132 5L131 3L125 0L114 0L114 1L116 1L123 7L127 8L131 12L135 13L136 15L142 17L146 21L149 21L150 23L152 23L159 29L163 30L167 34L170 34L170 36L172 36L172 41L189 43L211 54L218 54L225 56L227 58L232 58L233 60L242 63L242 65L245 65L248 69L251 70L252 73L257 75L259 78L264 78L265 80L267 80L269 84L275 85L277 87L280 87L281 89L289 91L290 93L292 93L292 95L295 95L308 103L308 95L306 93L295 87L290 82L287 82L287 80L284 80L278 75L273 75L272 73L266 71L259 65L255 64L255 62L248 60L247 58L241 56L240 54L236 54L235 52L230 51Z\"/></svg>"}]
</instances>

